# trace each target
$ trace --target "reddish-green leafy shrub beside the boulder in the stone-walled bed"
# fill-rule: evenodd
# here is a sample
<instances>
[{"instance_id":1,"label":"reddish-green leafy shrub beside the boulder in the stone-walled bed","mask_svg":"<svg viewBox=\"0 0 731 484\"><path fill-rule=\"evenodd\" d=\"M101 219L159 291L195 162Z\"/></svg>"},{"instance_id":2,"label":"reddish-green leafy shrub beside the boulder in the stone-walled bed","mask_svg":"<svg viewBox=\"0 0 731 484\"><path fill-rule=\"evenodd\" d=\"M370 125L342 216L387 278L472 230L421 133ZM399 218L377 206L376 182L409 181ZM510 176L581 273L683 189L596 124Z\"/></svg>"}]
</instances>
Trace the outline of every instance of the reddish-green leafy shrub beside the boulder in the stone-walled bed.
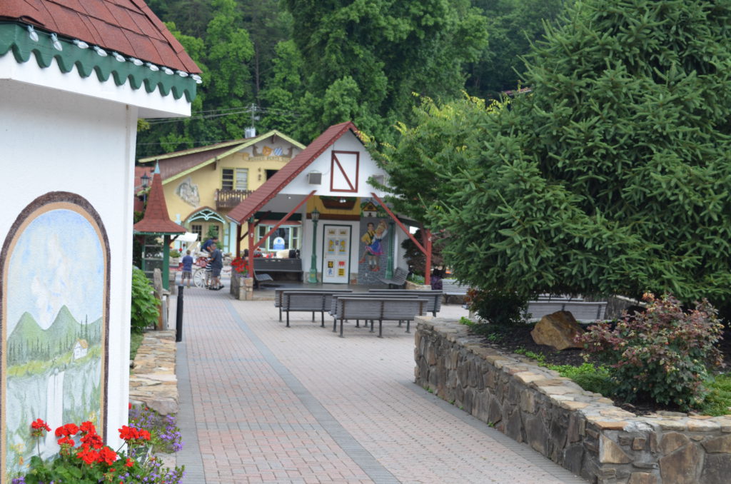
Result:
<instances>
[{"instance_id":1,"label":"reddish-green leafy shrub beside the boulder in the stone-walled bed","mask_svg":"<svg viewBox=\"0 0 731 484\"><path fill-rule=\"evenodd\" d=\"M705 398L707 365L721 363L714 346L723 329L716 309L705 299L687 312L670 295L643 299L645 312L625 314L613 330L607 323L592 325L577 341L613 368L618 396L627 401L697 406Z\"/></svg>"}]
</instances>

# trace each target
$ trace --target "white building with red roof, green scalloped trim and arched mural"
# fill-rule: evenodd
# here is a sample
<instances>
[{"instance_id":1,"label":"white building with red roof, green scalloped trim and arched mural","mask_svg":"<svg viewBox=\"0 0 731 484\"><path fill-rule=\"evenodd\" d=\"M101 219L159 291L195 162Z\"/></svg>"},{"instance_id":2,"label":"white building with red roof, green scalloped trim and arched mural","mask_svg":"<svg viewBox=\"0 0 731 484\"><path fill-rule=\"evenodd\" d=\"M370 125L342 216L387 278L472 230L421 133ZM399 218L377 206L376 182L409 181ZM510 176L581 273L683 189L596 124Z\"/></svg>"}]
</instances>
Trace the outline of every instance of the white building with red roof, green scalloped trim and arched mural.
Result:
<instances>
[{"instance_id":1,"label":"white building with red roof, green scalloped trim and arched mural","mask_svg":"<svg viewBox=\"0 0 731 484\"><path fill-rule=\"evenodd\" d=\"M61 417L50 410L45 413L46 407L53 407L45 393L37 396L39 403L30 394L9 394L7 367L44 358L23 349L23 330L36 323L49 335L46 358L55 351L51 331L95 335L96 349L90 340L88 352L99 354L99 363L90 371L99 374L93 385L100 385L101 407L87 413L97 417L108 442L117 447L116 429L127 421L137 118L189 116L198 72L143 1L0 2L3 469L10 469L17 457L7 452L13 439L20 439L15 427L27 426L11 421L17 415L13 405L32 409L36 417ZM69 213L84 227L86 221L91 237L61 222ZM36 221L44 224L45 240L62 242L47 246L33 238L24 240ZM99 257L89 258L97 249ZM31 256L47 267L23 262ZM45 281L48 274L53 278ZM35 292L14 293L21 276L45 282L39 282ZM78 295L85 291L94 292L101 305L80 300ZM38 300L45 306L39 307ZM48 319L45 313L56 318L53 324L42 322ZM20 321L18 314L23 314ZM8 355L7 349L15 353ZM5 472L1 480L5 482Z\"/></svg>"}]
</instances>

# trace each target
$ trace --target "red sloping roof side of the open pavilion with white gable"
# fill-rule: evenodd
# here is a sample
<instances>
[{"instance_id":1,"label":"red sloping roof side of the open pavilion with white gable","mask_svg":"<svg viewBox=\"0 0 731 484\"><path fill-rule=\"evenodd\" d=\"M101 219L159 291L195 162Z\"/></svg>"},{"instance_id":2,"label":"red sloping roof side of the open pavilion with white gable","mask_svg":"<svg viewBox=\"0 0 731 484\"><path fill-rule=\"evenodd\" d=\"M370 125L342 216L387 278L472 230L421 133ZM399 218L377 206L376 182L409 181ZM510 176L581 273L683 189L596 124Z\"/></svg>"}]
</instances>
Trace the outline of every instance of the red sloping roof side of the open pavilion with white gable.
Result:
<instances>
[{"instance_id":1,"label":"red sloping roof side of the open pavilion with white gable","mask_svg":"<svg viewBox=\"0 0 731 484\"><path fill-rule=\"evenodd\" d=\"M246 197L243 202L239 203L228 213L228 217L239 224L246 222L249 217L254 215L269 200L276 197L281 189L283 189L290 181L294 180L297 175L308 167L317 156L325 152L330 145L338 140L339 137L348 131L352 131L357 135L358 129L352 121L346 121L341 124L334 124L325 129L322 135L319 135L307 148L292 158L287 165L281 168L277 173L262 184L254 193Z\"/></svg>"}]
</instances>

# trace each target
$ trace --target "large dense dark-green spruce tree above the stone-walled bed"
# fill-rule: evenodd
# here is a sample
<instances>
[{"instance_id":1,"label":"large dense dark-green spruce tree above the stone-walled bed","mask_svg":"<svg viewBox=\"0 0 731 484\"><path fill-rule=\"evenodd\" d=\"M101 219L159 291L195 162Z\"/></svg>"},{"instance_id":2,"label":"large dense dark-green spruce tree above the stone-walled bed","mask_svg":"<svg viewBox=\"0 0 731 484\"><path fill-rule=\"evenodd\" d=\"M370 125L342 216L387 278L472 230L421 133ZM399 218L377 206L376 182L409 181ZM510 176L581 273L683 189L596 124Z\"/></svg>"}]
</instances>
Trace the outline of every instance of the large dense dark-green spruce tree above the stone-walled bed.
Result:
<instances>
[{"instance_id":1,"label":"large dense dark-green spruce tree above the stone-walled bed","mask_svg":"<svg viewBox=\"0 0 731 484\"><path fill-rule=\"evenodd\" d=\"M427 106L431 125L413 132L442 149L419 156L448 183L425 214L458 235L444 251L455 273L526 296L727 301L730 15L707 0L582 2L527 57L532 94L439 108L472 116L477 135L430 131L447 121ZM408 150L385 152L408 198Z\"/></svg>"}]
</instances>

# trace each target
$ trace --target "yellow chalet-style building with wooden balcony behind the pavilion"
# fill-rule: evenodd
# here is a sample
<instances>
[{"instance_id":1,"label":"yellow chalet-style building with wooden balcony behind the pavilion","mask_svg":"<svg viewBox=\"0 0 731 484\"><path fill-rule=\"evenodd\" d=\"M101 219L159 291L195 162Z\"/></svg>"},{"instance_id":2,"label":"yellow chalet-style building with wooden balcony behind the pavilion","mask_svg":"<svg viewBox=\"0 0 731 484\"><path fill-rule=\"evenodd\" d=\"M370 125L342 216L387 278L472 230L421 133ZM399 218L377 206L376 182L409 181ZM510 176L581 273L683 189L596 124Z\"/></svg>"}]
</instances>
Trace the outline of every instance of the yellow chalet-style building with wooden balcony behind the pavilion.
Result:
<instances>
[{"instance_id":1,"label":"yellow chalet-style building with wooden balcony behind the pavilion","mask_svg":"<svg viewBox=\"0 0 731 484\"><path fill-rule=\"evenodd\" d=\"M304 148L276 130L256 137L150 156L157 164L170 218L204 241L215 232L235 254L236 226L227 213Z\"/></svg>"}]
</instances>

